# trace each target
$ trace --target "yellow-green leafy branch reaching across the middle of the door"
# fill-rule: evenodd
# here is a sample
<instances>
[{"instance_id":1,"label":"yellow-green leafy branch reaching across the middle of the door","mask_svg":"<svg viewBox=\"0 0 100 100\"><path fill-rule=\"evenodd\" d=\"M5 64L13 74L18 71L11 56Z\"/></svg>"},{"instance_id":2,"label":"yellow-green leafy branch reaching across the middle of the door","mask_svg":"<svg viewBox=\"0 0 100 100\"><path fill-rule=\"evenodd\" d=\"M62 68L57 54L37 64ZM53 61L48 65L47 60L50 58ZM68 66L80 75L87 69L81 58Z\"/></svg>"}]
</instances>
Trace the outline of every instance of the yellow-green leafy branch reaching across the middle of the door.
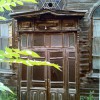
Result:
<instances>
[{"instance_id":1,"label":"yellow-green leafy branch reaching across the middle of the door","mask_svg":"<svg viewBox=\"0 0 100 100\"><path fill-rule=\"evenodd\" d=\"M23 59L21 56L26 56L27 59ZM33 58L34 60L29 58ZM60 70L60 66L57 64L50 63L48 61L37 61L35 58L40 58L40 56L31 50L19 50L14 48L5 48L5 51L0 50L1 62L22 63L26 66L52 66Z\"/></svg>"}]
</instances>

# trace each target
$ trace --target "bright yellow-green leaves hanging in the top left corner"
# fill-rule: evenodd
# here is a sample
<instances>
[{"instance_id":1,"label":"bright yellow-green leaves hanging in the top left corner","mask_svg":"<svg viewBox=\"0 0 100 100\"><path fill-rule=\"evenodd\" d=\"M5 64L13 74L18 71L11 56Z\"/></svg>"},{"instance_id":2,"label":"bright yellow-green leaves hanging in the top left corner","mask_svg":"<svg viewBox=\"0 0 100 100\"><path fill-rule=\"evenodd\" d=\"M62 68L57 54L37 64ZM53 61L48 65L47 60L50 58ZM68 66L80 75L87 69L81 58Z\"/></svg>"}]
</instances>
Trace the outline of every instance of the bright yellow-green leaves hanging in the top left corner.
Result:
<instances>
[{"instance_id":1,"label":"bright yellow-green leaves hanging in the top left corner","mask_svg":"<svg viewBox=\"0 0 100 100\"><path fill-rule=\"evenodd\" d=\"M23 2L37 3L36 0L0 0L0 12L5 10L11 11L11 7L16 7L18 5L23 5ZM6 20L3 16L0 16L0 20Z\"/></svg>"}]
</instances>

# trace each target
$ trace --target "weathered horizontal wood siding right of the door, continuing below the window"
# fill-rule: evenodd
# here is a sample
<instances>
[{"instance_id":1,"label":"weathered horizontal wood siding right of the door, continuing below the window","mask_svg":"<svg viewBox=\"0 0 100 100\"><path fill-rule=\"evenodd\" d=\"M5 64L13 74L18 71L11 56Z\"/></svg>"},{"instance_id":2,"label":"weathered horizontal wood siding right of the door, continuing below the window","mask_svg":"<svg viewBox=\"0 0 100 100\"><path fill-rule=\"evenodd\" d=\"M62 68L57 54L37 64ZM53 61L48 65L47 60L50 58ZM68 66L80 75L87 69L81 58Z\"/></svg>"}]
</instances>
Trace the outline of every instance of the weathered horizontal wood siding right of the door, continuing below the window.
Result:
<instances>
[{"instance_id":1,"label":"weathered horizontal wood siding right of the door, continuing below the window","mask_svg":"<svg viewBox=\"0 0 100 100\"><path fill-rule=\"evenodd\" d=\"M99 74L98 72L96 72L97 75L94 77L95 73L93 73L92 71L93 70L92 66L94 65L94 63L92 62L92 34L91 34L92 24L93 23L91 22L91 20L87 19L86 17L84 17L84 19L80 21L80 28L81 28L81 34L80 34L80 68L81 68L80 69L80 76L81 76L80 77L80 95L88 96L90 91L94 91L93 96L95 97L95 100L98 100L99 99L99 77L98 77ZM95 29L97 30L97 28ZM97 43L96 43L97 41L94 41L94 42L93 42L95 44L94 46L97 46ZM98 50L94 46L93 46L94 53L99 54ZM96 63L96 62L95 62L95 67L96 65L99 65L99 63ZM90 73L91 75L89 75Z\"/></svg>"}]
</instances>

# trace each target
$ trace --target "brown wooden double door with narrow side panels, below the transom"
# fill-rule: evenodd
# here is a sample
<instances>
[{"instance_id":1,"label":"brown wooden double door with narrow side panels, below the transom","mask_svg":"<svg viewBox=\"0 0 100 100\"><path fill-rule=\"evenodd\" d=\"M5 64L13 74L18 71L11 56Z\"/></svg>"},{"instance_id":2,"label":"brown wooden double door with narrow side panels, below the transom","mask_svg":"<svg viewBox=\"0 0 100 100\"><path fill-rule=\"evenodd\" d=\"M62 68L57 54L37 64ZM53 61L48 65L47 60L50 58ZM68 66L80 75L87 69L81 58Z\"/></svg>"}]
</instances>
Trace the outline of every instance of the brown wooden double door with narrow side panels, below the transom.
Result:
<instances>
[{"instance_id":1,"label":"brown wooden double door with narrow side panels, below the transom","mask_svg":"<svg viewBox=\"0 0 100 100\"><path fill-rule=\"evenodd\" d=\"M71 41L71 46L68 44L69 46L65 47L34 48L34 51L41 56L36 60L58 64L62 71L52 66L21 65L18 81L20 100L78 100L76 33L73 36L74 41Z\"/></svg>"}]
</instances>

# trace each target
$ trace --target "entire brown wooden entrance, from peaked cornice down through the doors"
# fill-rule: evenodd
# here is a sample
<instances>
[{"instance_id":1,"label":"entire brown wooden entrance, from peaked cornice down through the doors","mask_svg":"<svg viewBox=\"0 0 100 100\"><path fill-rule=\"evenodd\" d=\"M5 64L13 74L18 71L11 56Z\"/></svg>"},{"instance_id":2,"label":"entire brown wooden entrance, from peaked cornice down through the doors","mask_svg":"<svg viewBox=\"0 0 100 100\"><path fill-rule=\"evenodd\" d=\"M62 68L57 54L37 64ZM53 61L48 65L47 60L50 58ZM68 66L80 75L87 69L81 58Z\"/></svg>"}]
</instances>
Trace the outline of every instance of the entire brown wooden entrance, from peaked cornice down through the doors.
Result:
<instances>
[{"instance_id":1,"label":"entire brown wooden entrance, from peaked cornice down through the doors","mask_svg":"<svg viewBox=\"0 0 100 100\"><path fill-rule=\"evenodd\" d=\"M17 41L17 45L13 45L37 52L41 56L38 60L62 66L59 72L52 67L21 65L18 71L20 100L79 100L79 21L84 12L45 9L12 16L18 27L17 38L16 32L13 34L13 43Z\"/></svg>"}]
</instances>

